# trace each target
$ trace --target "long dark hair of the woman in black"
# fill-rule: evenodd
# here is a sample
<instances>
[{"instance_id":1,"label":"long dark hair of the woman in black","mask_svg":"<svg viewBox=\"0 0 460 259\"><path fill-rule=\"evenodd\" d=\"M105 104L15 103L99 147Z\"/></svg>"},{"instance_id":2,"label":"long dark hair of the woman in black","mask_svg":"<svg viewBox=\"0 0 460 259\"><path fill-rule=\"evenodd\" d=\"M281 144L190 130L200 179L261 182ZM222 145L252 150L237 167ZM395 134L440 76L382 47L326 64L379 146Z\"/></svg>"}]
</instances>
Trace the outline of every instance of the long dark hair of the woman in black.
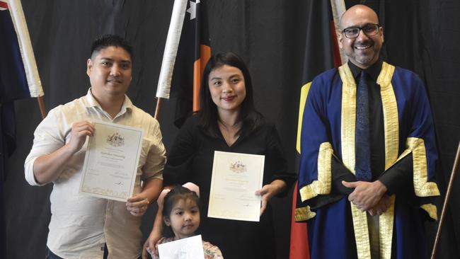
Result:
<instances>
[{"instance_id":1,"label":"long dark hair of the woman in black","mask_svg":"<svg viewBox=\"0 0 460 259\"><path fill-rule=\"evenodd\" d=\"M217 114L217 106L212 101L211 93L209 91L209 74L219 67L228 65L230 67L236 67L241 70L244 76L244 85L246 86L246 98L241 103L241 110L238 114L238 121L243 122L241 129L246 129L248 133L253 132L261 125L262 115L255 110L253 100L253 83L251 81L251 75L249 70L244 64L243 59L238 57L234 52L224 52L214 54L206 64L205 70L203 71L201 89L200 89L200 125L207 132L207 134L218 137L219 127L217 121L219 115ZM241 129L236 134L241 133Z\"/></svg>"}]
</instances>

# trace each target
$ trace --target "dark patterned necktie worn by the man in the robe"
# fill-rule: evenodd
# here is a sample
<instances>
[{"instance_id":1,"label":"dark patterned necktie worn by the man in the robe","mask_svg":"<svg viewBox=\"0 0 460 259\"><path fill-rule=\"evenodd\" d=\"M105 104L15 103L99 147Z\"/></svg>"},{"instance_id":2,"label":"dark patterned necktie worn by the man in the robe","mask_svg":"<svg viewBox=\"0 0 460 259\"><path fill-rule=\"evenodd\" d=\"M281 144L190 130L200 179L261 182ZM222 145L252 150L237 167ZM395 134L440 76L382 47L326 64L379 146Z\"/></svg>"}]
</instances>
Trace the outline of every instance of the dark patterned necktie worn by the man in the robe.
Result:
<instances>
[{"instance_id":1,"label":"dark patterned necktie worn by the man in the robe","mask_svg":"<svg viewBox=\"0 0 460 259\"><path fill-rule=\"evenodd\" d=\"M371 181L371 146L369 137L369 90L367 74L361 71L356 93L355 172L357 180Z\"/></svg>"}]
</instances>

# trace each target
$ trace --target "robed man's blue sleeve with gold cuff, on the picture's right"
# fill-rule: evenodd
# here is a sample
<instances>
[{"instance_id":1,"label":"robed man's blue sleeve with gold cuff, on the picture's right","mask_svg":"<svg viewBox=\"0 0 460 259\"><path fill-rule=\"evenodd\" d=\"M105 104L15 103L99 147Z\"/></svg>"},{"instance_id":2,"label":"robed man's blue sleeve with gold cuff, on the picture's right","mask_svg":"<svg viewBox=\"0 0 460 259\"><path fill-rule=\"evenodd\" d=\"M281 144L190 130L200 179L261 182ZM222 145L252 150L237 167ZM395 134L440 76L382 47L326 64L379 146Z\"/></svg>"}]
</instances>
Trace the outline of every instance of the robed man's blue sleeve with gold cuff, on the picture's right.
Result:
<instances>
[{"instance_id":1,"label":"robed man's blue sleeve with gold cuff, on the picture's right","mask_svg":"<svg viewBox=\"0 0 460 259\"><path fill-rule=\"evenodd\" d=\"M406 103L398 103L398 108L408 105L407 115L400 119L408 127L408 137L403 139L406 149L379 180L386 185L389 192L403 195L409 201L413 200L411 203L424 209L432 219L437 219L437 209L431 203L431 197L439 196L435 183L435 126L422 81L418 76L410 79L410 91L406 90L406 93L410 93L406 96L410 98ZM402 127L400 129L405 130Z\"/></svg>"}]
</instances>

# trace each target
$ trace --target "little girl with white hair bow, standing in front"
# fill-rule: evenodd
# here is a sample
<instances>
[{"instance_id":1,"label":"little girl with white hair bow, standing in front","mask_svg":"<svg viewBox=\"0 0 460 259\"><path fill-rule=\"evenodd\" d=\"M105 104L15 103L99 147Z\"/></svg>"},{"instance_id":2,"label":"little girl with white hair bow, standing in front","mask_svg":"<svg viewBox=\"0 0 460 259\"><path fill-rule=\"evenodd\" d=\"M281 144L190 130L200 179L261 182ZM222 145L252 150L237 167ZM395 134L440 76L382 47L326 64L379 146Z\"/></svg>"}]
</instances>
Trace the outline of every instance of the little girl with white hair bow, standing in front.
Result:
<instances>
[{"instance_id":1,"label":"little girl with white hair bow, standing in front","mask_svg":"<svg viewBox=\"0 0 460 259\"><path fill-rule=\"evenodd\" d=\"M155 252L149 251L152 258L158 259L158 245L182 238L195 236L200 226L200 190L193 183L177 185L171 190L163 190L158 199L159 209L163 207L163 238L155 246ZM163 200L164 199L164 200ZM203 241L205 259L222 259L222 253L217 246Z\"/></svg>"}]
</instances>

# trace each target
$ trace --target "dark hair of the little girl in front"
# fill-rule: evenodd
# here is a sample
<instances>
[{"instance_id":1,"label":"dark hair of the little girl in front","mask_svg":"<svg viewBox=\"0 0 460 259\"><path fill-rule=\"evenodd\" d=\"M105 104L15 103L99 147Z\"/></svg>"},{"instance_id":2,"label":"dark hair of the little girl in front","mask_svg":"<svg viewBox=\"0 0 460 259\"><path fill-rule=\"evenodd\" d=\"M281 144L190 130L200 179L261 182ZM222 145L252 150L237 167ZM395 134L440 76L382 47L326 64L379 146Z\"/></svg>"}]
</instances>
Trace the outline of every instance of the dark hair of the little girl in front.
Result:
<instances>
[{"instance_id":1,"label":"dark hair of the little girl in front","mask_svg":"<svg viewBox=\"0 0 460 259\"><path fill-rule=\"evenodd\" d=\"M198 209L200 209L200 198L198 197L197 193L183 186L176 185L164 197L162 212L163 219L170 219L171 211L173 210L174 205L176 205L176 202L178 202L179 200L191 200L192 202L195 202L198 206ZM171 226L166 226L164 221L163 236L167 238L171 238L174 236L173 229L171 229Z\"/></svg>"}]
</instances>

